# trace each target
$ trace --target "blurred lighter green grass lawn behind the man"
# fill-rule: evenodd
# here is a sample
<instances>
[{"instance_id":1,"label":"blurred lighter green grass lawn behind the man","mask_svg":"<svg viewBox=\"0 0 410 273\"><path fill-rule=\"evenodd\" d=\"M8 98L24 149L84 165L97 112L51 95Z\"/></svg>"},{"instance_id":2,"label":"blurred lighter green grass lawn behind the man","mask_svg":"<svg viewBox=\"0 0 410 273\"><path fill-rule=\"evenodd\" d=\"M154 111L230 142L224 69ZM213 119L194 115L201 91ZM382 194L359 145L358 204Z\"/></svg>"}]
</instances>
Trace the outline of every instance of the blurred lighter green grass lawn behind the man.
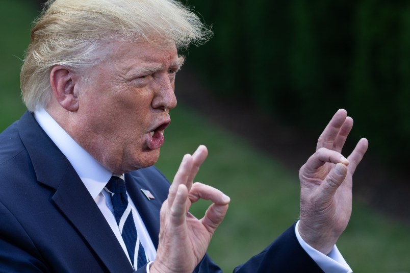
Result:
<instances>
[{"instance_id":1,"label":"blurred lighter green grass lawn behind the man","mask_svg":"<svg viewBox=\"0 0 410 273\"><path fill-rule=\"evenodd\" d=\"M0 130L25 109L18 75L20 59L29 42L30 22L36 16L36 10L22 2L9 0L2 4ZM209 157L196 180L219 188L232 199L209 253L225 272L232 271L297 219L297 173L281 165L280 158L254 150L251 143L210 123L192 109L179 105L171 116L157 166L172 181L183 155L193 153L199 144L207 145ZM198 202L192 212L202 217L208 205ZM338 247L355 272L410 272L408 230L409 227L354 200L350 224Z\"/></svg>"}]
</instances>

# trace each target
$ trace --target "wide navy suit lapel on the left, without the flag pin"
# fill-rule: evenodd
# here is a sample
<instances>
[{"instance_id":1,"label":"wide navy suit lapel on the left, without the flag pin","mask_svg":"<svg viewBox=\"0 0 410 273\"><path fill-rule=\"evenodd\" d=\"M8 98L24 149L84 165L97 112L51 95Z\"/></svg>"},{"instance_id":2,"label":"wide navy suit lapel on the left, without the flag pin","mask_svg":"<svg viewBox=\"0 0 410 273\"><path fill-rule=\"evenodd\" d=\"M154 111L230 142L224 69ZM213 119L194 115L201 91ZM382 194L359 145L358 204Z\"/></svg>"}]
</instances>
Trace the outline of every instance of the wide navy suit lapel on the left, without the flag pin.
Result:
<instances>
[{"instance_id":1,"label":"wide navy suit lapel on the left, without the flag pin","mask_svg":"<svg viewBox=\"0 0 410 273\"><path fill-rule=\"evenodd\" d=\"M87 188L31 113L26 112L20 119L19 132L30 154L38 181L56 189L52 200L61 213L78 230L110 272L133 272L129 260Z\"/></svg>"}]
</instances>

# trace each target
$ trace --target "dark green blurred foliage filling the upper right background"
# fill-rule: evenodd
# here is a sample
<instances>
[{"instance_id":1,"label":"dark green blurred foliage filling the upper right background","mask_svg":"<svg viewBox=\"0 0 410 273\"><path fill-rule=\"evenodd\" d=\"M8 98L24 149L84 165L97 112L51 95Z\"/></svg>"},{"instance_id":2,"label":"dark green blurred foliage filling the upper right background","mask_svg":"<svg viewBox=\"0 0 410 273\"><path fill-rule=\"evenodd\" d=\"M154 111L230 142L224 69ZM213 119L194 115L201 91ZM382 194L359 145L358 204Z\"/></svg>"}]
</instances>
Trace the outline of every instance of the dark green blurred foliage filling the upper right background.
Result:
<instances>
[{"instance_id":1,"label":"dark green blurred foliage filling the upper right background","mask_svg":"<svg viewBox=\"0 0 410 273\"><path fill-rule=\"evenodd\" d=\"M370 154L410 153L410 2L189 0L214 38L189 58L215 94L318 132L338 108Z\"/></svg>"}]
</instances>

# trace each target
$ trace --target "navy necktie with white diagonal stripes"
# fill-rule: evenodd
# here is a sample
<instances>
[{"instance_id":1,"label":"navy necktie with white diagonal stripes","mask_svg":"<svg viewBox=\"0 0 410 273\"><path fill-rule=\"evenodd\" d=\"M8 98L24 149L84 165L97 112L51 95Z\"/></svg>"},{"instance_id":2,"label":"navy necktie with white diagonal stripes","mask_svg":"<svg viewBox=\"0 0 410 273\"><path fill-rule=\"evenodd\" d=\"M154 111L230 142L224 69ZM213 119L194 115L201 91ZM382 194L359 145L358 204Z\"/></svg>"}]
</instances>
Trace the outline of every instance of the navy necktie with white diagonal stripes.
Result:
<instances>
[{"instance_id":1,"label":"navy necktie with white diagonal stripes","mask_svg":"<svg viewBox=\"0 0 410 273\"><path fill-rule=\"evenodd\" d=\"M126 250L130 255L131 263L138 269L147 263L145 251L138 239L137 229L135 228L131 205L125 193L125 181L119 177L112 176L106 188L111 193L111 201L114 208L114 216L124 240ZM136 264L134 263L137 258Z\"/></svg>"}]
</instances>

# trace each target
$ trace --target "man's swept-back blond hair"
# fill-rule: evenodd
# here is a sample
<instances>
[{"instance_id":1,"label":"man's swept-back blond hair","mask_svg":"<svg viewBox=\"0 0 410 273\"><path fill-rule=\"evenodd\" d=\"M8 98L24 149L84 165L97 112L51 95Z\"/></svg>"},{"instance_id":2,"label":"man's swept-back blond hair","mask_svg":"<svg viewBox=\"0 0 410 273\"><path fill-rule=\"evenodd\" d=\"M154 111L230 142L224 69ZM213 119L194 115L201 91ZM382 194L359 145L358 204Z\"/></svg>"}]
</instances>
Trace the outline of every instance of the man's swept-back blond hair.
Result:
<instances>
[{"instance_id":1,"label":"man's swept-back blond hair","mask_svg":"<svg viewBox=\"0 0 410 273\"><path fill-rule=\"evenodd\" d=\"M55 65L81 75L104 58L114 41L155 46L201 44L212 35L198 16L175 0L49 0L31 32L20 87L30 111L52 97Z\"/></svg>"}]
</instances>

